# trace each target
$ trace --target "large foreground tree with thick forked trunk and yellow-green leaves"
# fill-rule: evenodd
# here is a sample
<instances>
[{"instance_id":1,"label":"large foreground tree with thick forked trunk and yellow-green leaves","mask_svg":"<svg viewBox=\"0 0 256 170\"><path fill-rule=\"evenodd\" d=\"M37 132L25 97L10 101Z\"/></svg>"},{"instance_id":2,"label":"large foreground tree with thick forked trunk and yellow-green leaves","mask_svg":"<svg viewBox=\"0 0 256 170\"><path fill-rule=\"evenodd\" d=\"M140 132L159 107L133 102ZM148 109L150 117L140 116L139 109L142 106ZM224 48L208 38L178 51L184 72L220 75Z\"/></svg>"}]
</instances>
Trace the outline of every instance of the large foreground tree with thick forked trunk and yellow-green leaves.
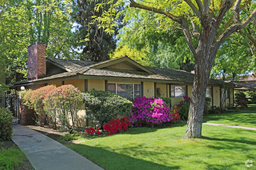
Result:
<instances>
[{"instance_id":1,"label":"large foreground tree with thick forked trunk and yellow-green leaves","mask_svg":"<svg viewBox=\"0 0 256 170\"><path fill-rule=\"evenodd\" d=\"M103 17L96 18L97 22L105 28L105 31L112 33L112 26L117 24L115 16L116 7L127 5L127 2L119 0L114 3L112 0L104 1L97 6L97 9L105 4L111 4L112 8L105 11ZM256 15L256 8L250 15L241 16L241 10L247 5L254 5L254 0L184 0L184 1L129 1L126 22L136 18L141 11L153 13L155 23L168 23L169 29L177 24L181 27L187 41L187 45L194 57L195 76L192 87L191 104L187 132L183 138L198 138L202 136L202 120L205 103L206 88L210 77L211 67L217 51L224 40L237 30L247 26ZM129 10L129 8L131 10ZM96 21L95 20L95 21ZM224 21L230 22L224 22ZM165 29L168 29L165 27Z\"/></svg>"}]
</instances>

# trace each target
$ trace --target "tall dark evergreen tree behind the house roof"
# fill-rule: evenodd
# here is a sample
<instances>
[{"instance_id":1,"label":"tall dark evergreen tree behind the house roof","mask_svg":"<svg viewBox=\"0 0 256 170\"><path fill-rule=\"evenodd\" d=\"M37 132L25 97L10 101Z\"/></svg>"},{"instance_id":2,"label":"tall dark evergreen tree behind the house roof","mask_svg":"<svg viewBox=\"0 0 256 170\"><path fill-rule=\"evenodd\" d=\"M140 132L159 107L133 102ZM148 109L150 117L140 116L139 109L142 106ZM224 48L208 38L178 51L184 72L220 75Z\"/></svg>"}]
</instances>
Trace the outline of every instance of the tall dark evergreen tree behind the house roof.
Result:
<instances>
[{"instance_id":1,"label":"tall dark evergreen tree behind the house roof","mask_svg":"<svg viewBox=\"0 0 256 170\"><path fill-rule=\"evenodd\" d=\"M112 35L108 35L98 22L90 24L93 17L101 16L103 13L102 9L94 10L99 3L100 0L77 0L75 20L78 24L78 46L82 48L83 60L95 62L108 60L109 53L116 49L116 41ZM109 5L105 8L108 7Z\"/></svg>"}]
</instances>

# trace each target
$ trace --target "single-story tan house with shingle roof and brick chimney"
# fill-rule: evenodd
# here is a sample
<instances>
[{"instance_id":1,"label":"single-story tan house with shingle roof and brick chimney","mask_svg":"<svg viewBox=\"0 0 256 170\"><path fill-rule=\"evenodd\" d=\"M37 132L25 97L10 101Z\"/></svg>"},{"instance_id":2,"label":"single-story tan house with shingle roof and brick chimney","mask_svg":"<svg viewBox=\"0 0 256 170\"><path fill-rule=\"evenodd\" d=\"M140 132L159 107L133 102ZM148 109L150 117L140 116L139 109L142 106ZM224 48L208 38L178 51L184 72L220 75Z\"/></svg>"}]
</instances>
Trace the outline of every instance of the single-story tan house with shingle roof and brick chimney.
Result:
<instances>
[{"instance_id":1,"label":"single-story tan house with shingle roof and brick chimney","mask_svg":"<svg viewBox=\"0 0 256 170\"><path fill-rule=\"evenodd\" d=\"M28 80L16 82L11 88L36 89L45 85L73 84L80 91L105 90L133 101L136 97L172 97L172 106L183 96L190 96L194 74L183 70L142 66L127 56L104 62L68 60L45 56L45 44L36 42L28 47ZM212 106L220 106L224 97L221 81L210 79L206 96ZM234 84L226 84L226 104L233 104ZM225 105L226 105L225 104ZM24 114L24 113L22 113ZM84 108L79 115L86 114ZM24 121L23 121L24 122ZM84 126L85 122L80 122ZM87 122L88 125L90 122ZM25 124L25 123L23 123Z\"/></svg>"}]
</instances>

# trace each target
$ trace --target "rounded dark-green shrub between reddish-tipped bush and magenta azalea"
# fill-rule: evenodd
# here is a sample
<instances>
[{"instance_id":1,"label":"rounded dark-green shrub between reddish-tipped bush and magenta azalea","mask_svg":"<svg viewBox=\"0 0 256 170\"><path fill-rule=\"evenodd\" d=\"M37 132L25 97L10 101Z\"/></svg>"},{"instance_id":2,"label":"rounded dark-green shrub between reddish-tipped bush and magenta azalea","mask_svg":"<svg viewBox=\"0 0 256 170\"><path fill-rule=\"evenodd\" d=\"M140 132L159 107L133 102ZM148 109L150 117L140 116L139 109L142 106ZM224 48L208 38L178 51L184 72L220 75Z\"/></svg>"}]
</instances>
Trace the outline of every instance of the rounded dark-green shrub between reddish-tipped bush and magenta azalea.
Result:
<instances>
[{"instance_id":1,"label":"rounded dark-green shrub between reddish-tipped bush and magenta azalea","mask_svg":"<svg viewBox=\"0 0 256 170\"><path fill-rule=\"evenodd\" d=\"M86 106L85 119L91 119L92 123L102 127L103 123L116 119L118 115L129 116L133 108L133 102L121 95L107 91L93 89L84 93Z\"/></svg>"}]
</instances>

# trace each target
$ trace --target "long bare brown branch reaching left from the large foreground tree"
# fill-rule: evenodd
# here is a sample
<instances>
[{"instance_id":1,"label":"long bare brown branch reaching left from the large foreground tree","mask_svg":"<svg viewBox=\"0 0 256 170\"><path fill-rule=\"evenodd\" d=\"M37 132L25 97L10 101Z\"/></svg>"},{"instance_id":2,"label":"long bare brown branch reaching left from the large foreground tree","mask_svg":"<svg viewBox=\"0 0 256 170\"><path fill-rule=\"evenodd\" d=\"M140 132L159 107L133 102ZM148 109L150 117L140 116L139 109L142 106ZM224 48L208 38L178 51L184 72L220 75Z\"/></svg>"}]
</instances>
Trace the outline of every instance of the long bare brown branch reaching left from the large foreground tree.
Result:
<instances>
[{"instance_id":1,"label":"long bare brown branch reaching left from the large foreground tree","mask_svg":"<svg viewBox=\"0 0 256 170\"><path fill-rule=\"evenodd\" d=\"M152 12L155 12L155 13L163 14L163 15L167 16L168 18L170 18L171 20L182 24L180 17L172 15L171 13L168 13L167 11L164 11L162 9L157 9L157 8L154 8L154 7L149 7L149 6L142 5L142 4L138 4L138 3L134 2L134 0L130 0L130 2L131 2L130 7L145 9L147 11L152 11Z\"/></svg>"}]
</instances>

